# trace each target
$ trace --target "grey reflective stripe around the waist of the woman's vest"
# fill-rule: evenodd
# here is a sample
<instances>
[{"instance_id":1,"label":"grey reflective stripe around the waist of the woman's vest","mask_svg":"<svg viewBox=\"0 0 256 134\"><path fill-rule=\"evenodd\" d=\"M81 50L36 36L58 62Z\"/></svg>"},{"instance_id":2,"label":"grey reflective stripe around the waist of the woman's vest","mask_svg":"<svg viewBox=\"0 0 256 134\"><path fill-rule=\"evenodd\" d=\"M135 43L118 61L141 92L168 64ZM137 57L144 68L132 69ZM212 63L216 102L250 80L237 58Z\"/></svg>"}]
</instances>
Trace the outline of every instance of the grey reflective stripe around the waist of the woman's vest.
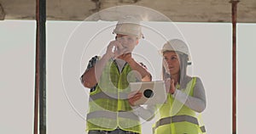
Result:
<instances>
[{"instance_id":1,"label":"grey reflective stripe around the waist of the woman's vest","mask_svg":"<svg viewBox=\"0 0 256 134\"><path fill-rule=\"evenodd\" d=\"M176 116L166 117L166 118L162 118L162 119L158 120L155 123L154 129L156 129L159 126L164 126L167 124L183 122L183 121L187 121L187 122L193 123L195 125L198 125L198 121L195 117L192 117L189 115L176 115Z\"/></svg>"}]
</instances>

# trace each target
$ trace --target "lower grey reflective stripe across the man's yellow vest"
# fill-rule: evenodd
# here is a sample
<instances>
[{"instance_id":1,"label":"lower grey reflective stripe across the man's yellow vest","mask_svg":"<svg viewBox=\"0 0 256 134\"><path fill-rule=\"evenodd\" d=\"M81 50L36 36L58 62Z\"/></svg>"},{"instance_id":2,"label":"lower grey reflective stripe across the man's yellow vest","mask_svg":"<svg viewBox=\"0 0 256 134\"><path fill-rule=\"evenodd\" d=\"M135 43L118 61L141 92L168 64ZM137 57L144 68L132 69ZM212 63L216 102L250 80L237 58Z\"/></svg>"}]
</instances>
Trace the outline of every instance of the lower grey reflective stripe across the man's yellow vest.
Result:
<instances>
[{"instance_id":1,"label":"lower grey reflective stripe across the man's yellow vest","mask_svg":"<svg viewBox=\"0 0 256 134\"><path fill-rule=\"evenodd\" d=\"M127 118L131 120L139 120L136 114L133 112L111 112L111 111L95 111L87 114L86 120L95 119L95 118L108 118L111 120L117 120L117 117Z\"/></svg>"}]
</instances>

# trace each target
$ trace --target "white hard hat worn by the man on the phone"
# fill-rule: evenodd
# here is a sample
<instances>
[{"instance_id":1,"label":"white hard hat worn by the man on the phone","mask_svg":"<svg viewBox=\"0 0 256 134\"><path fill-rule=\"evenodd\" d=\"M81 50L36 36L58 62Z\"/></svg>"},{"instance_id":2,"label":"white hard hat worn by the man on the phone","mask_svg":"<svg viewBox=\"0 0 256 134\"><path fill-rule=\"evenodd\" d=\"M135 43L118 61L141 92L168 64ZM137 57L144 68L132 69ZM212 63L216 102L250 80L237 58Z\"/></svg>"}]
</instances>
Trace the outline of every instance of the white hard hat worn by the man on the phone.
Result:
<instances>
[{"instance_id":1,"label":"white hard hat worn by the man on the phone","mask_svg":"<svg viewBox=\"0 0 256 134\"><path fill-rule=\"evenodd\" d=\"M113 33L121 35L132 35L137 36L138 38L143 37L140 21L138 18L133 16L125 16L121 18L113 30Z\"/></svg>"}]
</instances>

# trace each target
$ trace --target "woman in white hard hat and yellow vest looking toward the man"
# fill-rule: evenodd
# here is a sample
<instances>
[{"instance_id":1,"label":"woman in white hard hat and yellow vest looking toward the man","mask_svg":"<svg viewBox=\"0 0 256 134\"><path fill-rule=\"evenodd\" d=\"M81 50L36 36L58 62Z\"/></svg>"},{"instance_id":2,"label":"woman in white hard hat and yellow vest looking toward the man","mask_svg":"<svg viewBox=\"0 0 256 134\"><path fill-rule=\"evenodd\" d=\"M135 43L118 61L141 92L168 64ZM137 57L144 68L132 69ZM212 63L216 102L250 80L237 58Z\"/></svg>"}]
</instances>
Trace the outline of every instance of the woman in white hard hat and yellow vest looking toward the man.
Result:
<instances>
[{"instance_id":1,"label":"woman in white hard hat and yellow vest looking toward the man","mask_svg":"<svg viewBox=\"0 0 256 134\"><path fill-rule=\"evenodd\" d=\"M206 109L206 95L201 79L187 75L188 46L173 39L166 42L160 53L168 96L166 103L160 106L160 119L154 125L154 134L205 133L197 114Z\"/></svg>"}]
</instances>

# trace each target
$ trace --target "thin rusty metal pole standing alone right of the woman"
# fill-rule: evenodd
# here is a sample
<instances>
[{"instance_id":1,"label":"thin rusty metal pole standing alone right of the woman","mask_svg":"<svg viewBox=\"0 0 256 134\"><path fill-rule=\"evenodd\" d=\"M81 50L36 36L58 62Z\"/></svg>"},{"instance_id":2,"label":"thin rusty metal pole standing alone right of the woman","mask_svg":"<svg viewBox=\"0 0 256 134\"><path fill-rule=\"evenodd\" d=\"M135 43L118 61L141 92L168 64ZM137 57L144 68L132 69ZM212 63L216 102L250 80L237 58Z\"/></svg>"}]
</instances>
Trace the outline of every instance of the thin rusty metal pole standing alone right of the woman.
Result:
<instances>
[{"instance_id":1,"label":"thin rusty metal pole standing alone right of the woman","mask_svg":"<svg viewBox=\"0 0 256 134\"><path fill-rule=\"evenodd\" d=\"M231 0L232 3L232 133L236 134L236 10L239 0Z\"/></svg>"}]
</instances>

